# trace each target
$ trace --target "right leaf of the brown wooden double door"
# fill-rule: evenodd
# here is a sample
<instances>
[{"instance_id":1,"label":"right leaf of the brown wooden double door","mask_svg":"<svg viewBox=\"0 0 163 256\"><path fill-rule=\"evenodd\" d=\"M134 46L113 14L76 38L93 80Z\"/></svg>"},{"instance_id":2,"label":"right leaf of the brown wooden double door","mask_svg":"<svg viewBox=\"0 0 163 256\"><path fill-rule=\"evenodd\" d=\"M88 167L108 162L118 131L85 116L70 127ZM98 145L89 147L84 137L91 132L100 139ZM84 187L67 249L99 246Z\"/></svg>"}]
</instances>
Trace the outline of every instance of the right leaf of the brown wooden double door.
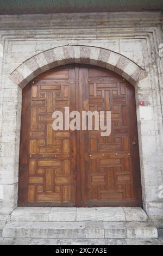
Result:
<instances>
[{"instance_id":1,"label":"right leaf of the brown wooden double door","mask_svg":"<svg viewBox=\"0 0 163 256\"><path fill-rule=\"evenodd\" d=\"M79 68L81 80L85 80L83 73L86 74L85 67ZM80 105L80 112L111 111L110 136L102 137L101 131L83 131L80 137L80 159L85 166L85 174L82 169L80 175L86 178L79 206L140 206L139 148L137 145L133 149L131 144L132 140L137 141L134 88L113 72L92 67L87 68L87 83L79 81L79 85L83 102L87 102Z\"/></svg>"}]
</instances>

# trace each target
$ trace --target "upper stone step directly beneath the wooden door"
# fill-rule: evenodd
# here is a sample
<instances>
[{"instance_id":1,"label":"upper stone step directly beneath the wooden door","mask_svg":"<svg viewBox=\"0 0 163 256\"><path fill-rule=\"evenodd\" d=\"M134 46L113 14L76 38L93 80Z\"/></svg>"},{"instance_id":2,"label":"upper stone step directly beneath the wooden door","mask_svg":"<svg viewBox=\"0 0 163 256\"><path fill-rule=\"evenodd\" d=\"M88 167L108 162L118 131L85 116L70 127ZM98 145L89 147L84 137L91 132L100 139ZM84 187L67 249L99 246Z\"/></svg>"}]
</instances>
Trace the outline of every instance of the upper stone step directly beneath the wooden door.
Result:
<instances>
[{"instance_id":1,"label":"upper stone step directly beneath the wooden door","mask_svg":"<svg viewBox=\"0 0 163 256\"><path fill-rule=\"evenodd\" d=\"M47 208L18 207L11 214L11 221L147 221L142 208Z\"/></svg>"}]
</instances>

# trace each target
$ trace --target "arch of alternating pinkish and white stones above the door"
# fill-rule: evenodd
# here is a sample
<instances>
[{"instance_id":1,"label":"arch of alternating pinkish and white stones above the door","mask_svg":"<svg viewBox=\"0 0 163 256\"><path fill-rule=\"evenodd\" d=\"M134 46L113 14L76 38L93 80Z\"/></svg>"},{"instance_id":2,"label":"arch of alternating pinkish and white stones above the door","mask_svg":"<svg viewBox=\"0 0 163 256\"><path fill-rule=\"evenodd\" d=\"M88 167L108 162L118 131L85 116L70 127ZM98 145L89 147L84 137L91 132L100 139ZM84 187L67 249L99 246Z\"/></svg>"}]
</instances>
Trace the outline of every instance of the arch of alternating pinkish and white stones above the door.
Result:
<instances>
[{"instance_id":1,"label":"arch of alternating pinkish and white stones above the door","mask_svg":"<svg viewBox=\"0 0 163 256\"><path fill-rule=\"evenodd\" d=\"M119 53L95 46L65 45L29 58L10 74L10 78L24 88L42 72L71 63L91 64L109 69L125 78L134 87L147 76L144 69Z\"/></svg>"}]
</instances>

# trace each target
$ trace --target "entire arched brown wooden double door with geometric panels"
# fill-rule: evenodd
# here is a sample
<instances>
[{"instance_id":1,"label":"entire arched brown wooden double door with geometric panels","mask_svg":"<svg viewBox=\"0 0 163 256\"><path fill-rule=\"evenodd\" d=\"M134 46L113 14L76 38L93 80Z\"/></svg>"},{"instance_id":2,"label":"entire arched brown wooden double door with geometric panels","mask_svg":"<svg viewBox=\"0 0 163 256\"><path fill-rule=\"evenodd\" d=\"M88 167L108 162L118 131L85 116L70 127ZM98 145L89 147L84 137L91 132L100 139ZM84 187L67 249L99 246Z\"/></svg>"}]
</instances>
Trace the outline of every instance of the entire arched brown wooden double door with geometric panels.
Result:
<instances>
[{"instance_id":1,"label":"entire arched brown wooden double door with geometric panels","mask_svg":"<svg viewBox=\"0 0 163 256\"><path fill-rule=\"evenodd\" d=\"M66 65L23 89L18 205L141 206L135 91L112 71ZM54 131L54 111L111 111L111 135Z\"/></svg>"}]
</instances>

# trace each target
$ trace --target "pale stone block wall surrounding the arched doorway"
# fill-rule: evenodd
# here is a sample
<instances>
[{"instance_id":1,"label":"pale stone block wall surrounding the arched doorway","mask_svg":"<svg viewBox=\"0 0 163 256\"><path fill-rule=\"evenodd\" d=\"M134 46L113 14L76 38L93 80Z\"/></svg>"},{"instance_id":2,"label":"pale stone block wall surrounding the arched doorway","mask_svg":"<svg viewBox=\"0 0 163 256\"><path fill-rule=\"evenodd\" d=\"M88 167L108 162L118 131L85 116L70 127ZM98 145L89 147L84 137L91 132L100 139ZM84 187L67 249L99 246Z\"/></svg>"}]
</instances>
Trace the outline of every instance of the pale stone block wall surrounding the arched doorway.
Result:
<instances>
[{"instance_id":1,"label":"pale stone block wall surrounding the arched doorway","mask_svg":"<svg viewBox=\"0 0 163 256\"><path fill-rule=\"evenodd\" d=\"M17 206L22 89L9 74L37 53L75 44L120 53L147 71L135 88L143 205L148 215L163 215L163 57L158 54L162 24L162 13L0 16L1 214L10 214Z\"/></svg>"}]
</instances>

